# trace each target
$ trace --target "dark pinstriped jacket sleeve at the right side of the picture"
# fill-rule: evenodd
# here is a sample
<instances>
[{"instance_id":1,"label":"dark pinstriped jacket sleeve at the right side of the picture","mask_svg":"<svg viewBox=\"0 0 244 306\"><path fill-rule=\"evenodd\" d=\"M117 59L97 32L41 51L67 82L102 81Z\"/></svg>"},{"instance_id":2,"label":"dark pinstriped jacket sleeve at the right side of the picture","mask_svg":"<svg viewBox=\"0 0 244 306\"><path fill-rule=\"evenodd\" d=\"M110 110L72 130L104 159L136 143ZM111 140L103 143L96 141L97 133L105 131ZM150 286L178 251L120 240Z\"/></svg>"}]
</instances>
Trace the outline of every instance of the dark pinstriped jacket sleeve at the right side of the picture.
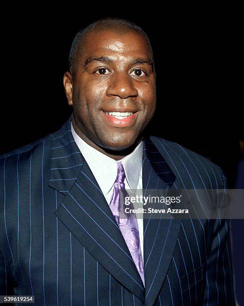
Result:
<instances>
[{"instance_id":1,"label":"dark pinstriped jacket sleeve at the right side of the picture","mask_svg":"<svg viewBox=\"0 0 244 306\"><path fill-rule=\"evenodd\" d=\"M222 178L219 188L226 189L227 182L223 172L217 175ZM213 243L207 261L203 305L236 305L229 219L215 220Z\"/></svg>"}]
</instances>

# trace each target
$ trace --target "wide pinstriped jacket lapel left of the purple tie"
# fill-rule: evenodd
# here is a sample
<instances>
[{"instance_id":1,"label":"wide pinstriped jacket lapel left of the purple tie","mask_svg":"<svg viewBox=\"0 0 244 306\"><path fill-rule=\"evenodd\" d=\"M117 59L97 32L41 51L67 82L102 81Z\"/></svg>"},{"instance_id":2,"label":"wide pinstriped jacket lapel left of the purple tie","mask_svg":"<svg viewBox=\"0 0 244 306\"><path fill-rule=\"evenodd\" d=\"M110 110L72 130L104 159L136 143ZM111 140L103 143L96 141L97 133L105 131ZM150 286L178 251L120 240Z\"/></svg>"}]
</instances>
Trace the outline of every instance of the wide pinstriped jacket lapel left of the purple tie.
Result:
<instances>
[{"instance_id":1,"label":"wide pinstriped jacket lapel left of the purple tie","mask_svg":"<svg viewBox=\"0 0 244 306\"><path fill-rule=\"evenodd\" d=\"M90 254L142 302L145 290L109 205L77 147L71 118L52 140L49 185L65 196L55 211Z\"/></svg>"}]
</instances>

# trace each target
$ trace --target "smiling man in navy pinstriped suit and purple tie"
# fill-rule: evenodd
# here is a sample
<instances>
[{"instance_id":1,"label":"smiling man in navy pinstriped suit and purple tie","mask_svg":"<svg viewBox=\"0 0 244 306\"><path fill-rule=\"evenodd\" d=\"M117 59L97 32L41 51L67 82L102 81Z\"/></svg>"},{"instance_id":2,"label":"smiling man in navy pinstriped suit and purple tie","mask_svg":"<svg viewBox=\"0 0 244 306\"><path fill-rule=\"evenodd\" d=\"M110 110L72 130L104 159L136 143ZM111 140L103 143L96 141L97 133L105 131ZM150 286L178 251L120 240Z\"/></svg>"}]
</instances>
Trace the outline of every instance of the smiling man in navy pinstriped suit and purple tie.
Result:
<instances>
[{"instance_id":1,"label":"smiling man in navy pinstriped suit and purple tie","mask_svg":"<svg viewBox=\"0 0 244 306\"><path fill-rule=\"evenodd\" d=\"M98 20L76 35L69 66L72 117L0 159L0 294L37 305L234 305L228 221L132 214L123 229L118 216L124 188L226 187L217 165L145 136L156 106L146 34Z\"/></svg>"}]
</instances>

